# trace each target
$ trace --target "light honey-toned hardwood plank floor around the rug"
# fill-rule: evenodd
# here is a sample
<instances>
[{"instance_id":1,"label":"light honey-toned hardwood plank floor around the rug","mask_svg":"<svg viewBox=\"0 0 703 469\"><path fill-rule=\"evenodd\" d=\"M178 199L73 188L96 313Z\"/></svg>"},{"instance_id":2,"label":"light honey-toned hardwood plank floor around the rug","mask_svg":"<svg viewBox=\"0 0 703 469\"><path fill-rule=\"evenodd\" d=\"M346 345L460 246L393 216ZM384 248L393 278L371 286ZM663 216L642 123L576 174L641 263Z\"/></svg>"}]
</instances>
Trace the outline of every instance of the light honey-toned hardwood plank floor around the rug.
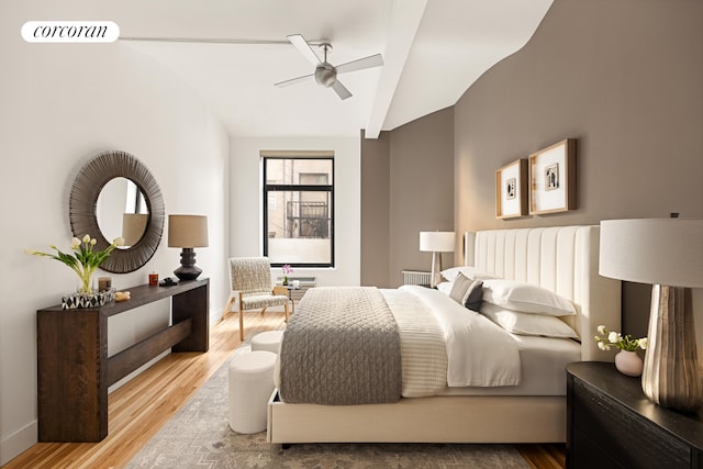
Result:
<instances>
[{"instance_id":1,"label":"light honey-toned hardwood plank floor around the rug","mask_svg":"<svg viewBox=\"0 0 703 469\"><path fill-rule=\"evenodd\" d=\"M283 314L248 313L247 336L279 328ZM109 434L100 443L38 443L3 468L122 468L239 346L238 321L230 314L210 328L207 354L171 354L109 397ZM565 467L563 445L518 445L535 469Z\"/></svg>"}]
</instances>

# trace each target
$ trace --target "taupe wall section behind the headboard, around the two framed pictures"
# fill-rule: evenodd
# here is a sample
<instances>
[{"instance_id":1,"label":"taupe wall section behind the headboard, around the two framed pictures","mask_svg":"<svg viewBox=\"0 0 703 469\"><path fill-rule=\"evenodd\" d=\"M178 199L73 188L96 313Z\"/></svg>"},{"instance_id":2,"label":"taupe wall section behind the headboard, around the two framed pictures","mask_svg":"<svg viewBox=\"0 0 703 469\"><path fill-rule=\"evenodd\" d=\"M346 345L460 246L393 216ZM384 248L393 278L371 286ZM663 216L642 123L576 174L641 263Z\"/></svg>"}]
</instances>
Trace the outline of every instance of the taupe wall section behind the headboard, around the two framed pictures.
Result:
<instances>
[{"instance_id":1,"label":"taupe wall section behind the headboard, around the two framed pictures","mask_svg":"<svg viewBox=\"0 0 703 469\"><path fill-rule=\"evenodd\" d=\"M459 232L703 217L703 1L556 0L456 103L454 133ZM566 137L577 210L496 220L495 169ZM646 334L648 295L625 284L627 333Z\"/></svg>"}]
</instances>

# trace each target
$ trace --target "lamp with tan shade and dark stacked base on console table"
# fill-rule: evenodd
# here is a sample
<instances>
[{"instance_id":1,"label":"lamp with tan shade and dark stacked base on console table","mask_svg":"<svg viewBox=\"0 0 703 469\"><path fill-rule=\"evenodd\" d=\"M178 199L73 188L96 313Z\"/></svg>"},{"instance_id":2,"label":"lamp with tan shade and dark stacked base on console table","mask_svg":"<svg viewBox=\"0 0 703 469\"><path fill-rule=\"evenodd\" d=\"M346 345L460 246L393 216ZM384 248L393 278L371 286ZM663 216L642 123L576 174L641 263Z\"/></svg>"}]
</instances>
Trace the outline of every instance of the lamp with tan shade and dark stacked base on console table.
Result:
<instances>
[{"instance_id":1,"label":"lamp with tan shade and dark stacked base on console table","mask_svg":"<svg viewBox=\"0 0 703 469\"><path fill-rule=\"evenodd\" d=\"M174 270L180 280L196 280L202 269L196 267L194 247L208 247L208 217L168 215L168 247L180 247L180 267Z\"/></svg>"}]
</instances>

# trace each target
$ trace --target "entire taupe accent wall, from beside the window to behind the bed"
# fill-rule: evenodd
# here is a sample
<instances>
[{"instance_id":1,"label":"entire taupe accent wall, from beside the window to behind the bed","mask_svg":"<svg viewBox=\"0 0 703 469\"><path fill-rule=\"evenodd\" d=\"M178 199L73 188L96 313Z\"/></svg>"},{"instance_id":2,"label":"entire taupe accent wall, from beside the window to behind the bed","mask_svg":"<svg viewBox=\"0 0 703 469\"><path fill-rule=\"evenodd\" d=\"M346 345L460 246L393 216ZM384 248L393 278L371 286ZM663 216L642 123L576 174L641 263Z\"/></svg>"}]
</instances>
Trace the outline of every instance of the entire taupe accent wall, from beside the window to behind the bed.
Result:
<instances>
[{"instance_id":1,"label":"entire taupe accent wall, from beside the window to behind the bed","mask_svg":"<svg viewBox=\"0 0 703 469\"><path fill-rule=\"evenodd\" d=\"M495 170L567 137L578 141L577 210L495 219ZM428 269L420 230L703 217L703 1L555 0L525 47L453 108L364 141L361 154L361 197L373 198L361 209L364 284L394 287L401 269ZM387 180L388 192L369 191L378 165L389 172L373 183ZM649 291L624 284L626 333L647 333ZM701 310L703 291L693 297ZM701 342L700 315L696 330Z\"/></svg>"}]
</instances>

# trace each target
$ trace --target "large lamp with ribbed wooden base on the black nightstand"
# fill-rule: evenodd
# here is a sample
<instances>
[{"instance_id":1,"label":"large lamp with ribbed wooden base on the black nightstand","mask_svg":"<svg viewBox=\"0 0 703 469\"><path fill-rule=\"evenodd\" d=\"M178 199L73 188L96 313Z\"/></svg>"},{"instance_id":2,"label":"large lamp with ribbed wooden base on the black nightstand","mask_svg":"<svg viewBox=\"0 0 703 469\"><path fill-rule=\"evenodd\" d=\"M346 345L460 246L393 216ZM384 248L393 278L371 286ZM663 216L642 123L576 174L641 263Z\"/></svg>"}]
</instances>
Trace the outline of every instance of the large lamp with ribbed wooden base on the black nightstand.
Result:
<instances>
[{"instance_id":1,"label":"large lamp with ribbed wooden base on the black nightstand","mask_svg":"<svg viewBox=\"0 0 703 469\"><path fill-rule=\"evenodd\" d=\"M643 391L665 407L700 409L703 376L688 288L703 287L703 219L601 222L599 273L652 284Z\"/></svg>"}]
</instances>

